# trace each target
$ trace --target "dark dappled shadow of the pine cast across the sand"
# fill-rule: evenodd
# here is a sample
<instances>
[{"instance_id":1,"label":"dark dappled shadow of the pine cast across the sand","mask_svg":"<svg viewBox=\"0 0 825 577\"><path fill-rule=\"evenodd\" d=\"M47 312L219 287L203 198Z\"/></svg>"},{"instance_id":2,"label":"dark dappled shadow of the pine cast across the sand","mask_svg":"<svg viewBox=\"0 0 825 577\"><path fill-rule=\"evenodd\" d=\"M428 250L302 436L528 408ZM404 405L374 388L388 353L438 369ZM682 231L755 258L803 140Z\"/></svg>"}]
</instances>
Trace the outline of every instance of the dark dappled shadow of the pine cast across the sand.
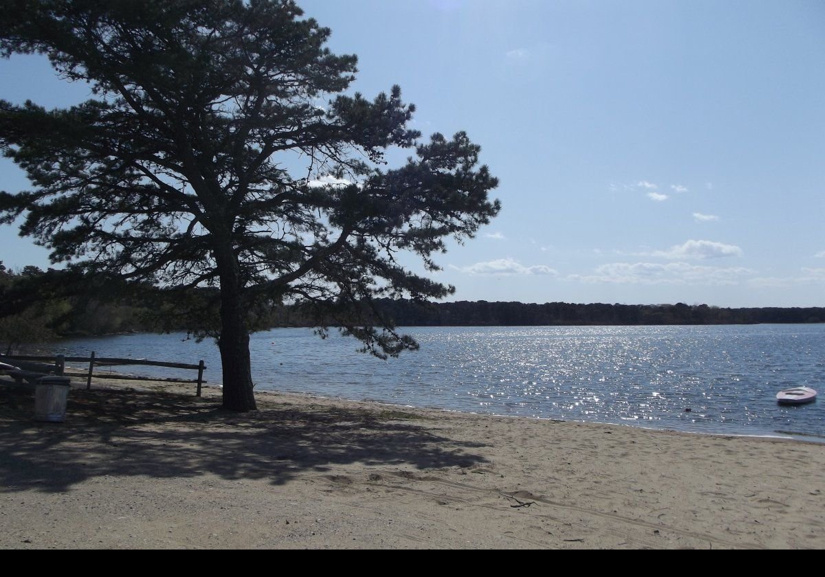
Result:
<instances>
[{"instance_id":1,"label":"dark dappled shadow of the pine cast across the sand","mask_svg":"<svg viewBox=\"0 0 825 577\"><path fill-rule=\"evenodd\" d=\"M0 386L0 491L65 491L98 476L266 479L361 462L419 469L473 467L468 452L422 417L392 407L266 401L254 413L160 392L79 391L65 423L35 423L31 392Z\"/></svg>"}]
</instances>

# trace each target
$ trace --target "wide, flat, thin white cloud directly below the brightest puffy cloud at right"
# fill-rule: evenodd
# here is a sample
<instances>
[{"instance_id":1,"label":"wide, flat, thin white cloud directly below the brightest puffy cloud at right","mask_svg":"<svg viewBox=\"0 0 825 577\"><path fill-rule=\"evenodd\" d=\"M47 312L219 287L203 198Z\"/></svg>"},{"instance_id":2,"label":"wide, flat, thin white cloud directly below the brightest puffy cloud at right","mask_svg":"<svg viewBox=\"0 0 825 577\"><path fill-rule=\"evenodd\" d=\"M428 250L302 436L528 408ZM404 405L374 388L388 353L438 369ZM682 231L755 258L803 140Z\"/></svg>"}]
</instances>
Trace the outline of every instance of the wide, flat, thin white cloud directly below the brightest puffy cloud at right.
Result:
<instances>
[{"instance_id":1,"label":"wide, flat, thin white cloud directly below the brightest puffy cloud at right","mask_svg":"<svg viewBox=\"0 0 825 577\"><path fill-rule=\"evenodd\" d=\"M592 284L738 284L754 271L744 267L691 265L686 262L615 262L601 265L594 274L572 274L568 280Z\"/></svg>"}]
</instances>

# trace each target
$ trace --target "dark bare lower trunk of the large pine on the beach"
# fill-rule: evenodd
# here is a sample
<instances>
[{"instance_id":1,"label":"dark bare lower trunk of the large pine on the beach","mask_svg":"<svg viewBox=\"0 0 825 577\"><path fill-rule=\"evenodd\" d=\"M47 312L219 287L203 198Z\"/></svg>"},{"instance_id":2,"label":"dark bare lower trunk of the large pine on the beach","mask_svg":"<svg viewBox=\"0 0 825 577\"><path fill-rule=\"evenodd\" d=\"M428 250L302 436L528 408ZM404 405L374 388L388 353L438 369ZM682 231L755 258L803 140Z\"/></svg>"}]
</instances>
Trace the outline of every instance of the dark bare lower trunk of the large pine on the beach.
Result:
<instances>
[{"instance_id":1,"label":"dark bare lower trunk of the large pine on the beach","mask_svg":"<svg viewBox=\"0 0 825 577\"><path fill-rule=\"evenodd\" d=\"M234 263L233 263L234 264ZM224 365L224 409L257 410L252 392L249 332L244 321L236 266L220 275L220 361Z\"/></svg>"}]
</instances>

